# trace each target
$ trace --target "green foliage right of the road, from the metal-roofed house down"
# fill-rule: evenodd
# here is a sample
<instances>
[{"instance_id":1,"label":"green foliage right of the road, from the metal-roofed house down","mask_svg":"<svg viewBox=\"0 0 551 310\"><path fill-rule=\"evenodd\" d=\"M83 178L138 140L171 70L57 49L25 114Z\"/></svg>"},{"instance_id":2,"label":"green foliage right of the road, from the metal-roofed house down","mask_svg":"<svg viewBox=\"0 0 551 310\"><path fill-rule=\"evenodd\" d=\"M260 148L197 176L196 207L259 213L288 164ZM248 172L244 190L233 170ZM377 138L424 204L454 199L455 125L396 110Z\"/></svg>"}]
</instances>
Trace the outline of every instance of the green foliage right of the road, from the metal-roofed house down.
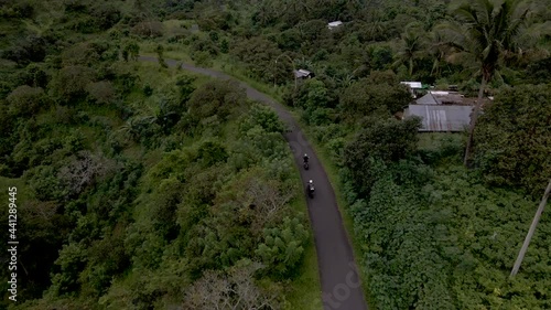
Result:
<instances>
[{"instance_id":1,"label":"green foliage right of the road, from the metal-roofed house down","mask_svg":"<svg viewBox=\"0 0 551 310\"><path fill-rule=\"evenodd\" d=\"M551 173L549 87L504 89L485 107L473 170L466 137L418 133L414 118L310 129L338 168L370 307L550 307L549 216L509 278Z\"/></svg>"}]
</instances>

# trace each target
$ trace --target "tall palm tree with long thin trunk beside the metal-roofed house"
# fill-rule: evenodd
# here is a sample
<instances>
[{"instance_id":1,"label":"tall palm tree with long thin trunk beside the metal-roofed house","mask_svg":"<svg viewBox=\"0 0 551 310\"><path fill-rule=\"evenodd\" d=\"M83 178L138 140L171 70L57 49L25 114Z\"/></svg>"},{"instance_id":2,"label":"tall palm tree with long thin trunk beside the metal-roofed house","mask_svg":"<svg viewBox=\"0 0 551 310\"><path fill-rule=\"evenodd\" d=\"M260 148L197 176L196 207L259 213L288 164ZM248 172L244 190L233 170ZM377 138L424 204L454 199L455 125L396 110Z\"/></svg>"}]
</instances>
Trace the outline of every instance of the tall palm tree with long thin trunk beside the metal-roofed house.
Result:
<instances>
[{"instance_id":1,"label":"tall palm tree with long thin trunk beside the metal-roofed house","mask_svg":"<svg viewBox=\"0 0 551 310\"><path fill-rule=\"evenodd\" d=\"M473 133L484 90L506 58L522 53L532 7L526 0L469 0L454 10L455 20L439 25L449 36L452 58L476 63L482 75L478 100L471 120L464 164L467 165ZM531 34L533 35L533 33Z\"/></svg>"}]
</instances>

